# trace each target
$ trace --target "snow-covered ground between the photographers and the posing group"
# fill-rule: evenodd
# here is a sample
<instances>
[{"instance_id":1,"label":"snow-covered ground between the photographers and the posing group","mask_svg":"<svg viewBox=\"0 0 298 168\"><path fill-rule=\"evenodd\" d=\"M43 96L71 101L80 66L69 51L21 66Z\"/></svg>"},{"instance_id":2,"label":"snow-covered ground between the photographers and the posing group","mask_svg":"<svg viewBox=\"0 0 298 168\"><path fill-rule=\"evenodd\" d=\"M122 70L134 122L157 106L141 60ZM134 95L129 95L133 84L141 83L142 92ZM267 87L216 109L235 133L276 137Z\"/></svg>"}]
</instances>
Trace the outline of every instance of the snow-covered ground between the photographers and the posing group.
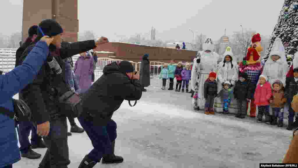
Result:
<instances>
[{"instance_id":1,"label":"snow-covered ground between the photographers and the posing group","mask_svg":"<svg viewBox=\"0 0 298 168\"><path fill-rule=\"evenodd\" d=\"M124 162L95 167L251 168L282 161L292 135L285 127L256 123L249 117L241 120L193 112L189 93L162 91L158 81L152 84L135 107L124 101L114 113L116 154L123 156ZM73 133L69 137L69 168L78 167L91 149L85 132ZM34 150L42 157L46 151ZM22 158L14 168L38 167L41 159Z\"/></svg>"}]
</instances>

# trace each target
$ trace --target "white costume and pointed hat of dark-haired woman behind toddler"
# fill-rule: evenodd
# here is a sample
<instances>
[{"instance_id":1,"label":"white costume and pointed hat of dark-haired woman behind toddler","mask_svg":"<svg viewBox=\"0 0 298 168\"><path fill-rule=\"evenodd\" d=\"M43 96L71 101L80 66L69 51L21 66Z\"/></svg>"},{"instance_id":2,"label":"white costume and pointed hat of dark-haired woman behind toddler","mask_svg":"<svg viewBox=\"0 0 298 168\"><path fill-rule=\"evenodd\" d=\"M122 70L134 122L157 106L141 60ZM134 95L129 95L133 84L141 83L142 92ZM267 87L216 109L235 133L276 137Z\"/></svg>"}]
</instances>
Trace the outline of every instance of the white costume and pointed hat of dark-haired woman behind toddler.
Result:
<instances>
[{"instance_id":1,"label":"white costume and pointed hat of dark-haired woman behind toddler","mask_svg":"<svg viewBox=\"0 0 298 168\"><path fill-rule=\"evenodd\" d=\"M230 89L233 92L235 83L238 81L238 65L236 62L236 59L233 60L234 54L231 51L230 47L226 48L226 52L224 53L224 59L222 62L218 65L218 72L217 72L217 80L218 80L218 91L220 91L223 88L223 83L228 81L230 85ZM231 61L226 62L225 58L226 56L230 56ZM215 111L216 112L222 112L223 106L222 106L222 99L219 97L215 100ZM236 113L238 111L237 101L233 98L233 96L230 97L229 101L229 113Z\"/></svg>"}]
</instances>

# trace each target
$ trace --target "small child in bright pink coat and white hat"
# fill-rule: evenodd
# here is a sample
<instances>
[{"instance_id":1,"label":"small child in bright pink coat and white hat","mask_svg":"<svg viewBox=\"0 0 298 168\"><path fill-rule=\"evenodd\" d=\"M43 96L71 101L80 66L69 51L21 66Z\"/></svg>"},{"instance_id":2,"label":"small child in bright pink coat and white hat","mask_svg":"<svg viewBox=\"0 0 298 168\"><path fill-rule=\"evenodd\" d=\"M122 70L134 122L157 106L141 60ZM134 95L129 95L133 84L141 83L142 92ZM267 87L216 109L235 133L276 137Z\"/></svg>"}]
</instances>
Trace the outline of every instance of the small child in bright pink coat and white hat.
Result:
<instances>
[{"instance_id":1,"label":"small child in bright pink coat and white hat","mask_svg":"<svg viewBox=\"0 0 298 168\"><path fill-rule=\"evenodd\" d=\"M260 75L259 83L256 91L254 92L254 103L258 106L257 122L261 122L263 114L265 114L266 124L271 123L271 117L269 114L270 98L272 96L272 88L267 77Z\"/></svg>"}]
</instances>

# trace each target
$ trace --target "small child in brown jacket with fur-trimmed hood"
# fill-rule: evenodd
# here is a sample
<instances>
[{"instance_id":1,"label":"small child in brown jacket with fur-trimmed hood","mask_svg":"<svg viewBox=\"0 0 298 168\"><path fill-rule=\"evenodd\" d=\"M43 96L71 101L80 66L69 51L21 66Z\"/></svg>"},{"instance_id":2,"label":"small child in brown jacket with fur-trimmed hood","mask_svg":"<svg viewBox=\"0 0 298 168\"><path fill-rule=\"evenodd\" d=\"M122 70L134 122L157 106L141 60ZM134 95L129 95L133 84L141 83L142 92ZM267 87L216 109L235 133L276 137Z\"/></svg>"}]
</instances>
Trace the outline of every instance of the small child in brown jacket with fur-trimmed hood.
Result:
<instances>
[{"instance_id":1,"label":"small child in brown jacket with fur-trimmed hood","mask_svg":"<svg viewBox=\"0 0 298 168\"><path fill-rule=\"evenodd\" d=\"M283 106L287 101L284 97L283 83L280 80L275 80L272 84L272 88L272 97L270 99L270 105L272 108L271 125L277 124L278 117L278 126L283 127Z\"/></svg>"}]
</instances>

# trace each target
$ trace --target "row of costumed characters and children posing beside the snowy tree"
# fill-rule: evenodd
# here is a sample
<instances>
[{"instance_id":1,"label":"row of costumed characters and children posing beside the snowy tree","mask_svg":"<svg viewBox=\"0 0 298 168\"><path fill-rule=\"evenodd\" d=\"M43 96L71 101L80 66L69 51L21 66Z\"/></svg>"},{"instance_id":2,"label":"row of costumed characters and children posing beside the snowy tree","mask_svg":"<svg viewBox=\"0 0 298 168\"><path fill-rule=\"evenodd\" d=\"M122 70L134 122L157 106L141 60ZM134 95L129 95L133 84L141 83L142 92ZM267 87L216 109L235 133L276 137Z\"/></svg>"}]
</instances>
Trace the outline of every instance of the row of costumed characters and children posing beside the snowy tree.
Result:
<instances>
[{"instance_id":1,"label":"row of costumed characters and children posing beside the snowy tree","mask_svg":"<svg viewBox=\"0 0 298 168\"><path fill-rule=\"evenodd\" d=\"M269 58L263 65L260 61L260 52L263 51L260 42L260 34L257 33L239 65L228 47L224 60L217 65L219 56L212 52L212 40L207 39L192 68L191 88L194 91L192 101L195 110L205 109L205 114L215 114L215 111L235 113L235 117L244 118L249 109L250 117L257 117L258 122L263 114L267 124L276 125L279 118L280 127L283 126L283 114L288 111L287 129L298 126L298 120L293 121L294 111L291 108L293 96L298 91L298 78L296 80L293 72L291 77L286 77L290 72L283 43L279 38L275 39ZM298 72L295 60L298 61L298 54L297 58L295 55L292 70Z\"/></svg>"}]
</instances>

